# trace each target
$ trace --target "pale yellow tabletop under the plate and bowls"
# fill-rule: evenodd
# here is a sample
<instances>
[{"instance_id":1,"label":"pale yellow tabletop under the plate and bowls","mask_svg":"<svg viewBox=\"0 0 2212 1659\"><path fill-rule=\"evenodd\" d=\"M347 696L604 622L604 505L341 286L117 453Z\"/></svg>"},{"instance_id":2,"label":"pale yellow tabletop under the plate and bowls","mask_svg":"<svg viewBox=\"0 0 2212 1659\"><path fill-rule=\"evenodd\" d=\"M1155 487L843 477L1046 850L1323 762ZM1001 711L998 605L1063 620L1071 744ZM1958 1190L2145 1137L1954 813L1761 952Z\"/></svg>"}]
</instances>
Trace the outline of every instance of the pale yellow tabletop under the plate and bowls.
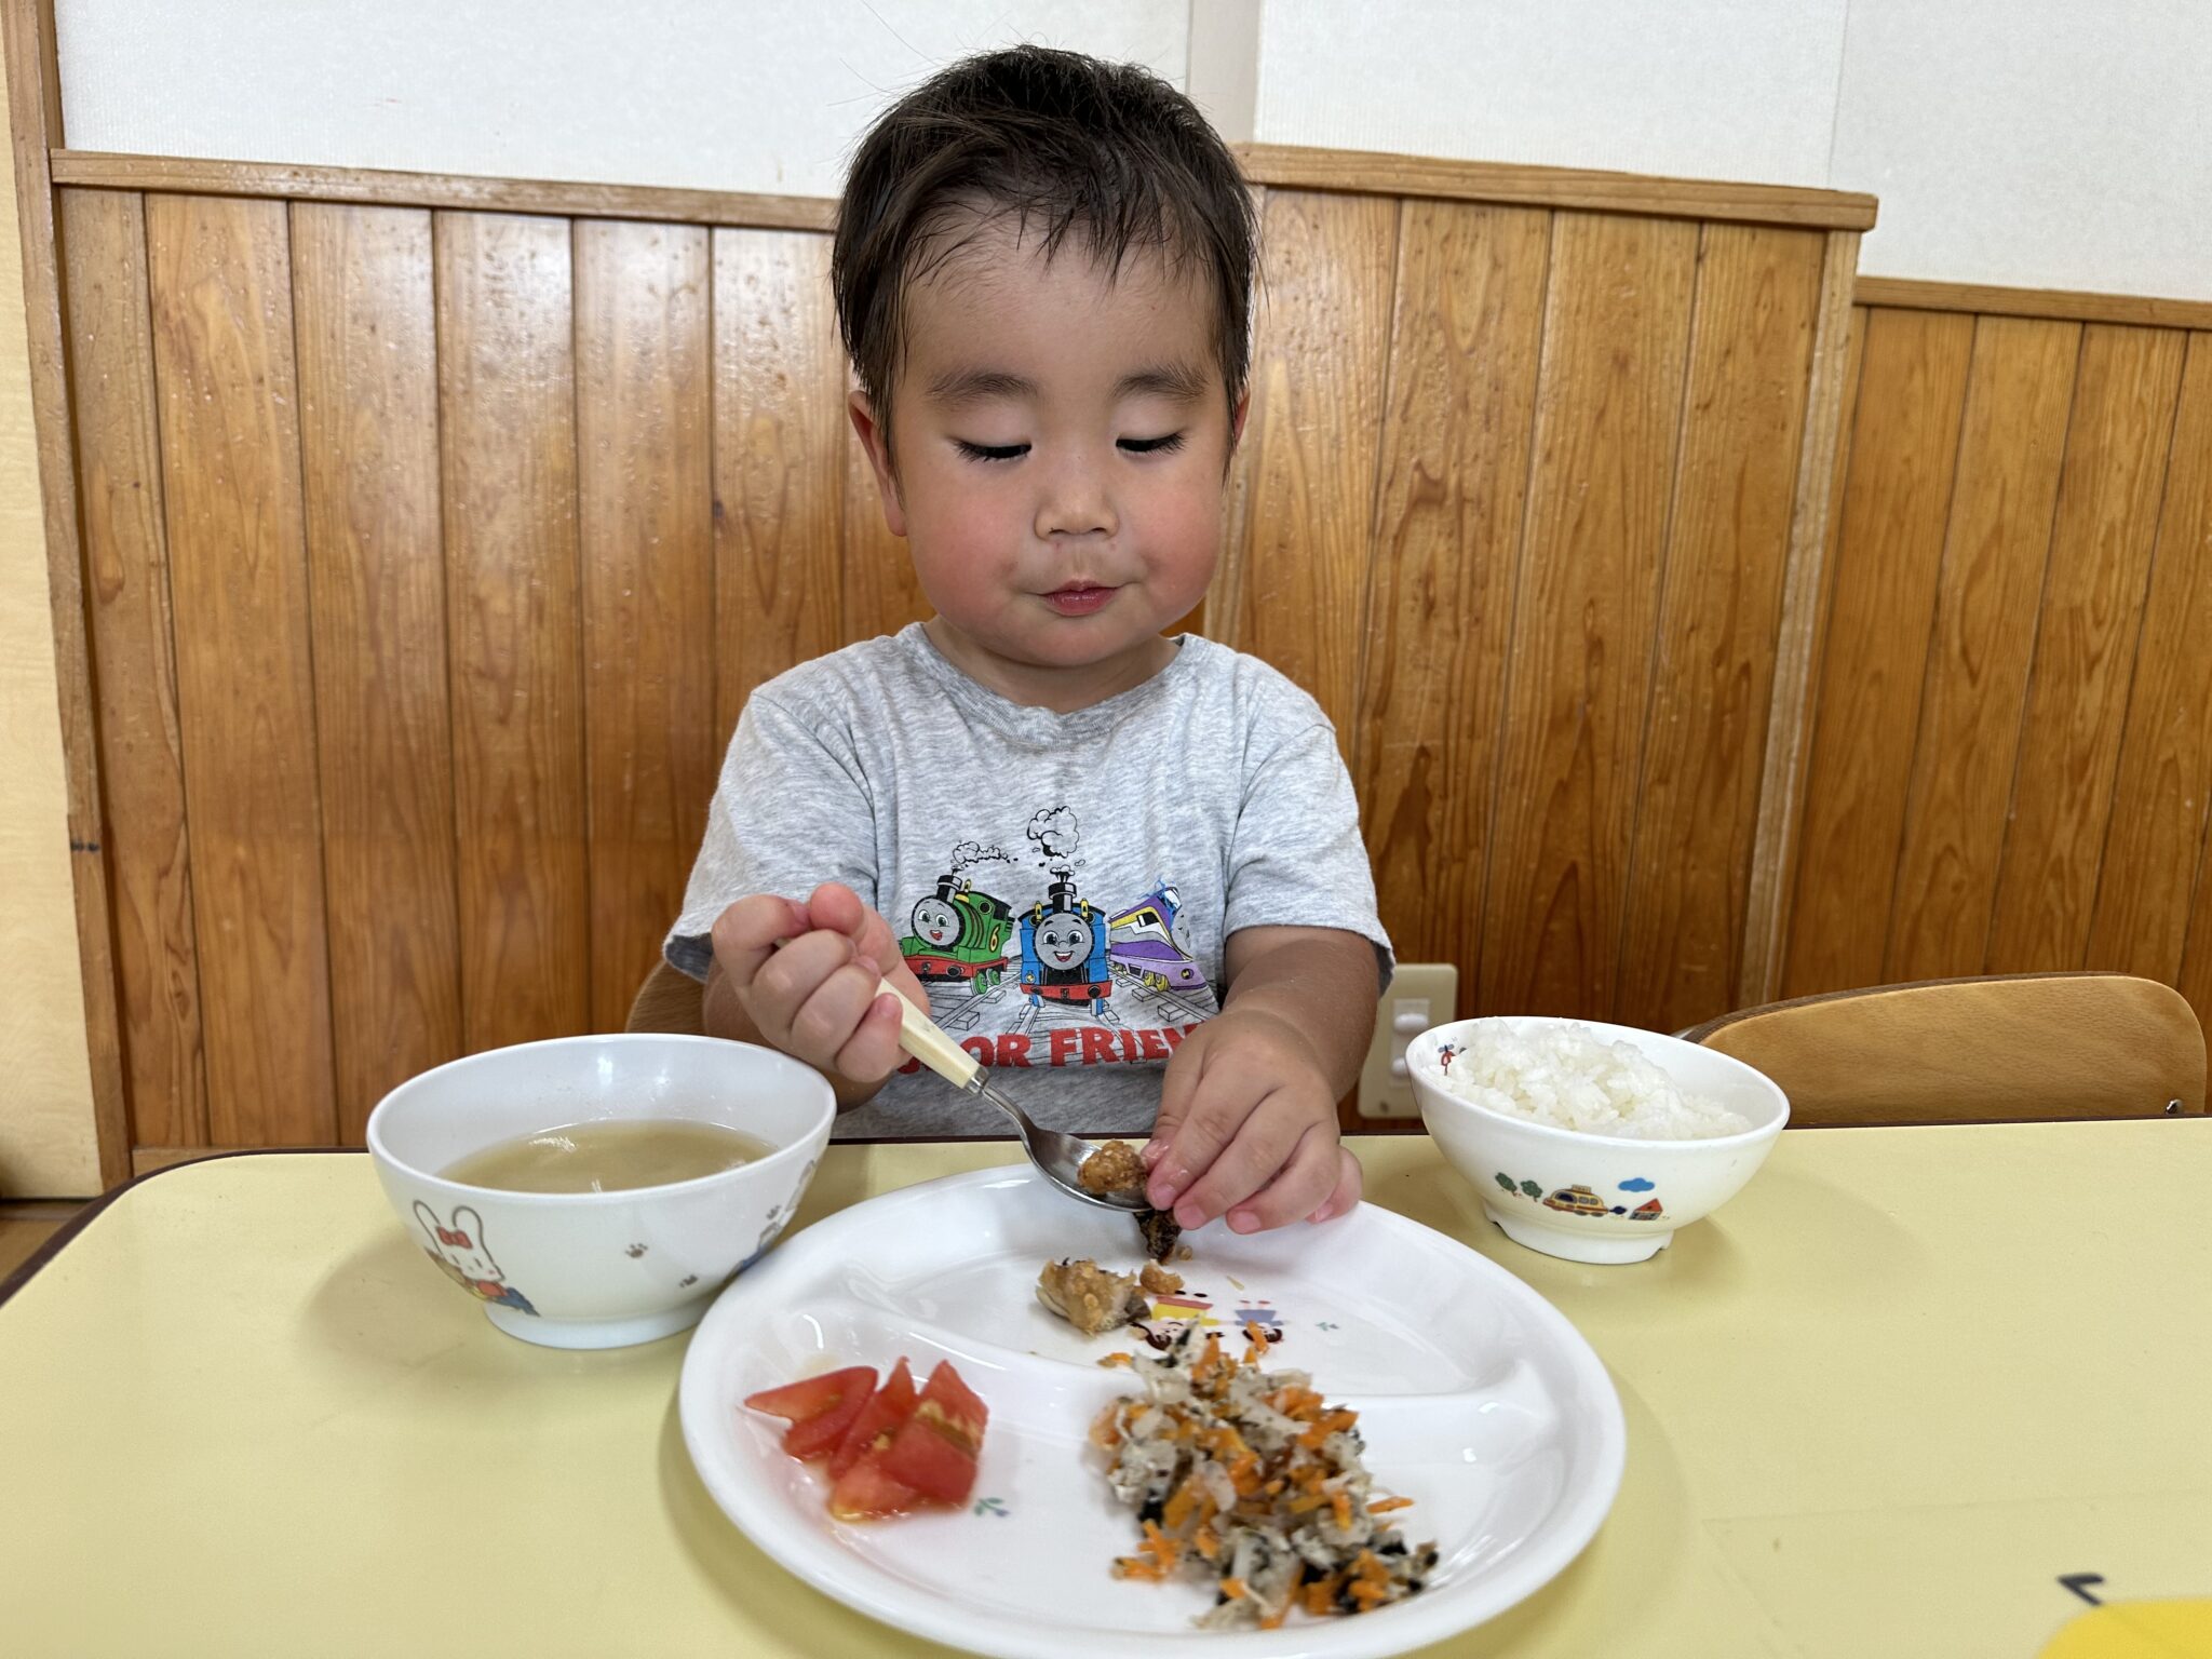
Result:
<instances>
[{"instance_id":1,"label":"pale yellow tabletop under the plate and bowls","mask_svg":"<svg viewBox=\"0 0 2212 1659\"><path fill-rule=\"evenodd\" d=\"M1509 1243L1427 1139L1358 1152L1628 1411L1582 1559L1433 1652L2203 1650L2212 1601L2152 1604L2212 1595L2212 1121L1794 1130L1635 1267ZM1011 1155L832 1148L799 1225ZM0 1652L938 1652L708 1502L684 1340L498 1334L365 1155L148 1177L0 1303Z\"/></svg>"}]
</instances>

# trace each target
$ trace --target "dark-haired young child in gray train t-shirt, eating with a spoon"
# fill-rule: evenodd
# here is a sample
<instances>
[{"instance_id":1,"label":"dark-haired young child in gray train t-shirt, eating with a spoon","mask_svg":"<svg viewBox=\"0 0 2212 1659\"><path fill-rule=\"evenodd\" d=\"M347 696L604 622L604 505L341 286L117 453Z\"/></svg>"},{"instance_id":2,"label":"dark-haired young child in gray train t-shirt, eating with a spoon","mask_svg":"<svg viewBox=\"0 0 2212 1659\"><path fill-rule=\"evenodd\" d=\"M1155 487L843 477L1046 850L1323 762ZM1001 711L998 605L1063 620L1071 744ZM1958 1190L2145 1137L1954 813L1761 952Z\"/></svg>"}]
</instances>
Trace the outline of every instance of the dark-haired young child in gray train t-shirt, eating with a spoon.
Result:
<instances>
[{"instance_id":1,"label":"dark-haired young child in gray train t-shirt, eating with a spoon","mask_svg":"<svg viewBox=\"0 0 2212 1659\"><path fill-rule=\"evenodd\" d=\"M1252 270L1237 164L1144 69L1020 46L876 122L832 274L936 615L752 695L666 947L708 1031L832 1079L845 1137L1004 1121L900 1053L887 975L1040 1121L1150 1130L1150 1201L1239 1232L1358 1203L1336 1102L1389 971L1321 708L1161 635L1219 553Z\"/></svg>"}]
</instances>

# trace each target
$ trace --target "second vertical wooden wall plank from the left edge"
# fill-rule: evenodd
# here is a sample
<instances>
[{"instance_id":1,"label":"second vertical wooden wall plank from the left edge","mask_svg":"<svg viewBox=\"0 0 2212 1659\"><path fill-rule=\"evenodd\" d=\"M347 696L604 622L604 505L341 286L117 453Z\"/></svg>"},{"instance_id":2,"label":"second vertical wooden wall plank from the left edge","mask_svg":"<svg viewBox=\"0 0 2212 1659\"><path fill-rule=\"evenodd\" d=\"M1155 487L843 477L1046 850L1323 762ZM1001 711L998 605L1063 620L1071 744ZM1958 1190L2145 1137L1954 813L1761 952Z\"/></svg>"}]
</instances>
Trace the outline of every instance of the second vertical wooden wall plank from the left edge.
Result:
<instances>
[{"instance_id":1,"label":"second vertical wooden wall plank from the left edge","mask_svg":"<svg viewBox=\"0 0 2212 1659\"><path fill-rule=\"evenodd\" d=\"M148 197L208 1137L330 1141L292 281L279 201Z\"/></svg>"}]
</instances>

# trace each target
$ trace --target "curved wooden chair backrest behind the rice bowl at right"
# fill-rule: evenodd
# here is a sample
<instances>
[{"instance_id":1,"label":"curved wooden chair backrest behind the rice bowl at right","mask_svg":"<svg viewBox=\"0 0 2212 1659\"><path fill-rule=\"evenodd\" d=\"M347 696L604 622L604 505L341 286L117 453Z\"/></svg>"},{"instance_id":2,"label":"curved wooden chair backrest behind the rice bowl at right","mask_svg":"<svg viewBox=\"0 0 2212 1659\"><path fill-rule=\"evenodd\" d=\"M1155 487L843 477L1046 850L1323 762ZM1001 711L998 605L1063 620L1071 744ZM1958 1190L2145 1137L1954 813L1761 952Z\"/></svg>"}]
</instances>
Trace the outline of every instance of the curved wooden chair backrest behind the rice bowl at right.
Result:
<instances>
[{"instance_id":1,"label":"curved wooden chair backrest behind the rice bowl at right","mask_svg":"<svg viewBox=\"0 0 2212 1659\"><path fill-rule=\"evenodd\" d=\"M2179 1117L2205 1108L2205 1037L2168 984L2011 973L1876 984L1690 1026L1790 1095L1792 1124Z\"/></svg>"}]
</instances>

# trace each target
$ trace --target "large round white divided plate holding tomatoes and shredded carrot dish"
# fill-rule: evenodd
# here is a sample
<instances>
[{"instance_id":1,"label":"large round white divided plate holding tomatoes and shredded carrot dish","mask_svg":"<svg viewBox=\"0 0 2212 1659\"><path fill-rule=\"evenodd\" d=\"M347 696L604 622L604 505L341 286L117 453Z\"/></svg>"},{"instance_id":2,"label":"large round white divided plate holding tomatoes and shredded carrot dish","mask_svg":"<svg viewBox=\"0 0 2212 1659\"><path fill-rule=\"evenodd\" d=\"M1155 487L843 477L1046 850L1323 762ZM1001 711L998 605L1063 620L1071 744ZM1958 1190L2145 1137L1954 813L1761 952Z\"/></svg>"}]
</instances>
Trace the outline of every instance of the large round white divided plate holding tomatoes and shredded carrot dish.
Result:
<instances>
[{"instance_id":1,"label":"large round white divided plate holding tomatoes and shredded carrot dish","mask_svg":"<svg viewBox=\"0 0 2212 1659\"><path fill-rule=\"evenodd\" d=\"M772 1250L708 1312L684 1360L679 1413L699 1478L754 1544L838 1601L973 1652L1396 1655L1513 1606L1559 1573L1606 1517L1626 1431L1606 1367L1573 1325L1495 1263L1371 1203L1323 1228L1192 1234L1175 1263L1212 1298L1283 1329L1272 1367L1312 1371L1360 1413L1378 1491L1433 1540L1429 1588L1345 1619L1292 1615L1272 1632L1201 1632L1203 1584L1135 1584L1108 1564L1137 1542L1091 1462L1086 1429L1128 1394L1097 1360L1141 1338L1079 1336L1035 1296L1046 1256L1141 1261L1135 1225L1048 1190L1026 1168L978 1170L858 1203ZM1234 1352L1243 1352L1241 1340ZM783 1425L741 1402L838 1365L916 1378L940 1358L984 1398L975 1500L958 1513L830 1520L818 1469Z\"/></svg>"}]
</instances>

